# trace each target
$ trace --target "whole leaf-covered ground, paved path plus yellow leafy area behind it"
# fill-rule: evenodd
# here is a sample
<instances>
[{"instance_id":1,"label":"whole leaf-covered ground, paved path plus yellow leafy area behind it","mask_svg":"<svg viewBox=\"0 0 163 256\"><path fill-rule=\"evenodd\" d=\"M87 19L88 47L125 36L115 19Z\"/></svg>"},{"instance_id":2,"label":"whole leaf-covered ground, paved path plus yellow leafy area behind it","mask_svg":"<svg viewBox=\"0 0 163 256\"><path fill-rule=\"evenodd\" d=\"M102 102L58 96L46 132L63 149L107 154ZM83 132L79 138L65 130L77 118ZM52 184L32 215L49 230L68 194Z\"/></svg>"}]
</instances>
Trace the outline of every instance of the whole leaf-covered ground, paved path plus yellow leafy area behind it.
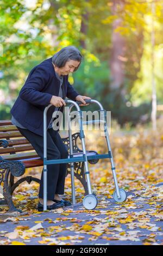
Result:
<instances>
[{"instance_id":1,"label":"whole leaf-covered ground, paved path plus yellow leafy area behind it","mask_svg":"<svg viewBox=\"0 0 163 256\"><path fill-rule=\"evenodd\" d=\"M161 128L161 127L160 127ZM139 132L111 134L118 184L127 191L126 202L116 203L110 163L101 160L89 165L95 210L84 209L84 190L76 180L77 204L50 212L37 212L39 185L22 184L14 193L14 203L22 216L7 215L0 206L1 245L163 245L163 132L137 128ZM89 133L87 149L106 152L104 138ZM26 174L40 176L42 168ZM71 180L66 178L65 198L71 199Z\"/></svg>"}]
</instances>

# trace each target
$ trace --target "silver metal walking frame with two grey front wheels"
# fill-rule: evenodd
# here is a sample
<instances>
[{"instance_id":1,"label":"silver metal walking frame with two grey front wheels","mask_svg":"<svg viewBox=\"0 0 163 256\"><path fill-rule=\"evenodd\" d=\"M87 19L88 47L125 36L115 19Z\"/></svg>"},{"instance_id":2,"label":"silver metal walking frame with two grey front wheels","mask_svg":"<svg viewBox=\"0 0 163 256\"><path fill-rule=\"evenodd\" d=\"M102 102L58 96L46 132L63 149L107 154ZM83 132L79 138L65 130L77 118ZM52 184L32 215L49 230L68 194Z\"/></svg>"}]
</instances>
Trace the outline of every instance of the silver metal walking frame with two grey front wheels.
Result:
<instances>
[{"instance_id":1,"label":"silver metal walking frame with two grey front wheels","mask_svg":"<svg viewBox=\"0 0 163 256\"><path fill-rule=\"evenodd\" d=\"M85 102L96 103L98 105L98 107L100 108L99 111L101 111L101 114L102 114L101 115L102 120L91 120L91 121L83 122L83 114L82 114L82 111L80 111L80 107L79 107L79 105L81 105L82 102L65 100L66 104L67 103L70 104L68 106L68 136L70 141L70 156L68 156L67 159L47 160L47 111L49 107L53 105L49 104L43 112L43 210L44 211L47 210L47 165L48 164L71 163L70 168L71 168L72 204L76 204L75 187L74 187L74 162L84 162L88 194L83 199L83 205L86 209L93 210L97 206L97 198L95 194L92 194L90 172L89 172L87 160L98 160L98 159L109 158L111 162L111 170L112 170L112 175L113 175L114 184L115 184L115 191L113 193L113 198L116 202L124 202L127 198L126 191L123 190L123 188L119 188L118 182L117 182L115 164L114 164L111 147L110 147L108 127L106 124L106 111L101 105L101 103L98 102L97 100L89 99L89 100L85 100ZM78 157L73 156L72 133L71 133L71 109L73 107L76 107L77 109L77 118L78 118L79 127L80 127L80 139L82 141L82 149L83 149L83 156L78 156ZM108 147L108 154L97 154L97 155L87 156L86 148L85 148L85 136L83 131L83 125L90 124L90 123L95 124L100 122L104 124L104 133L105 133L106 144Z\"/></svg>"}]
</instances>

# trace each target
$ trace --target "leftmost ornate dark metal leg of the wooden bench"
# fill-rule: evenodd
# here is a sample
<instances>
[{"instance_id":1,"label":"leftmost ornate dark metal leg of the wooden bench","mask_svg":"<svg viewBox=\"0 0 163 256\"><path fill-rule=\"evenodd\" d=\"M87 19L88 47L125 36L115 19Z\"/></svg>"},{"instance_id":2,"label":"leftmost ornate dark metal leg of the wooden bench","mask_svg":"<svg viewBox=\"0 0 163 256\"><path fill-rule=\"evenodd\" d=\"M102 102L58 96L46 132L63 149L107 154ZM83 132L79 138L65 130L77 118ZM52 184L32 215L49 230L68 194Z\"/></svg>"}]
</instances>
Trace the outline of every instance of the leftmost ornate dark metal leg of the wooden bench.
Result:
<instances>
[{"instance_id":1,"label":"leftmost ornate dark metal leg of the wooden bench","mask_svg":"<svg viewBox=\"0 0 163 256\"><path fill-rule=\"evenodd\" d=\"M7 169L4 177L4 186L3 186L3 195L9 206L8 212L15 212L15 211L22 212L21 210L16 209L14 206L14 203L12 202L12 196L10 193L10 187L9 187L9 181L8 181L9 173L10 173L10 169Z\"/></svg>"}]
</instances>

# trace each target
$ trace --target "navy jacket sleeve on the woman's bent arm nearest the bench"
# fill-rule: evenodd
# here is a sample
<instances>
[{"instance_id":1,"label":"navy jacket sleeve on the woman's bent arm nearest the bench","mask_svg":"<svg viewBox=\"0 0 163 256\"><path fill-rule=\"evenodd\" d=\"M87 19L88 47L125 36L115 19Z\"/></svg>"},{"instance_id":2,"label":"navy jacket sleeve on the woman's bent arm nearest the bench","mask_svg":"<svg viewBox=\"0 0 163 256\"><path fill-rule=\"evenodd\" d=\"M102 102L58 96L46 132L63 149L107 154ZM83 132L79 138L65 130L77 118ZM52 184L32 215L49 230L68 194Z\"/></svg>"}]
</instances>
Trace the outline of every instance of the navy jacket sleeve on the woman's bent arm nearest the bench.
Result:
<instances>
[{"instance_id":1,"label":"navy jacket sleeve on the woman's bent arm nearest the bench","mask_svg":"<svg viewBox=\"0 0 163 256\"><path fill-rule=\"evenodd\" d=\"M26 83L20 90L19 96L22 100L33 105L48 105L52 99L52 94L42 93L41 90L50 80L50 74L43 68L36 68L27 78Z\"/></svg>"}]
</instances>

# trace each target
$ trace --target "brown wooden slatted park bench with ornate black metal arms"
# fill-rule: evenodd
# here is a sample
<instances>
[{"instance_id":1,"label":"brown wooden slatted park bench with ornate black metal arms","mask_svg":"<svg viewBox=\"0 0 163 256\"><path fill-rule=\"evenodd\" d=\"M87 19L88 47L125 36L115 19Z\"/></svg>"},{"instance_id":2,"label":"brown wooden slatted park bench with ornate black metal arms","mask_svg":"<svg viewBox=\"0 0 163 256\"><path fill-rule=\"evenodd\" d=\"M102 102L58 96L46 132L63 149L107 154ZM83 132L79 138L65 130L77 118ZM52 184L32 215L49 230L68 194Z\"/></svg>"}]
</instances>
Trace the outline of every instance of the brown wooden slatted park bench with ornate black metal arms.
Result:
<instances>
[{"instance_id":1,"label":"brown wooden slatted park bench with ornate black metal arms","mask_svg":"<svg viewBox=\"0 0 163 256\"><path fill-rule=\"evenodd\" d=\"M80 133L72 135L73 155L82 156L82 150L78 147L78 140ZM67 150L69 151L69 140L62 138ZM96 151L87 151L87 155L97 155ZM98 159L89 160L91 164L98 162ZM40 179L33 176L23 176L16 182L15 177L22 176L27 168L43 166L43 161L37 155L32 145L21 133L17 127L12 125L10 120L0 121L0 185L3 185L4 200L0 200L1 204L8 204L9 212L19 211L12 202L12 194L16 187L22 182L27 181L28 184L32 181L40 183ZM70 164L67 164L67 174L70 174ZM87 191L87 184L85 179L84 162L74 163L74 176L82 183L85 194Z\"/></svg>"}]
</instances>

